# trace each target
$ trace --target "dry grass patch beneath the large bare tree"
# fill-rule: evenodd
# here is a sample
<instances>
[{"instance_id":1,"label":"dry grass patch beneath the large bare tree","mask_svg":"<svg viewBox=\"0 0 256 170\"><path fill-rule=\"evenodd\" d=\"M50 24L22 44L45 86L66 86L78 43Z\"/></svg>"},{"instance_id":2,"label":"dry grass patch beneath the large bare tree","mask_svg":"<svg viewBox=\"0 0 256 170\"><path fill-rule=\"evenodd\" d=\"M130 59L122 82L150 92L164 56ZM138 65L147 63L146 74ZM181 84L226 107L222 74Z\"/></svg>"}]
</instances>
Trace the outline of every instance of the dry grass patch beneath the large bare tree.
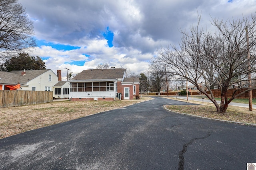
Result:
<instances>
[{"instance_id":1,"label":"dry grass patch beneath the large bare tree","mask_svg":"<svg viewBox=\"0 0 256 170\"><path fill-rule=\"evenodd\" d=\"M176 100L172 98L173 100ZM180 100L183 101L184 100ZM189 101L189 103L200 104L197 106L166 106L167 109L176 111L179 113L187 113L192 115L198 115L202 117L208 117L213 119L220 119L226 121L234 121L241 123L256 124L256 110L249 111L249 108L228 106L226 113L217 113L214 104L202 102Z\"/></svg>"}]
</instances>

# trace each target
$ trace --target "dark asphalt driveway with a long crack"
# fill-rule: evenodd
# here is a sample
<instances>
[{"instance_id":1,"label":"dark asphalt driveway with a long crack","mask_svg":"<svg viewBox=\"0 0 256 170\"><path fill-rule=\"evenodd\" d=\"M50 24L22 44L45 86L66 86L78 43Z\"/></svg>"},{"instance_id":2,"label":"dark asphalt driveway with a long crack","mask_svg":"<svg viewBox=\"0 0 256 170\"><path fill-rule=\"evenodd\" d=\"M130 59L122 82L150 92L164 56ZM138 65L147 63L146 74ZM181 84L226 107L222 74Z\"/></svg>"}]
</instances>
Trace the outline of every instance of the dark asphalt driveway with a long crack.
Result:
<instances>
[{"instance_id":1,"label":"dark asphalt driveway with a long crack","mask_svg":"<svg viewBox=\"0 0 256 170\"><path fill-rule=\"evenodd\" d=\"M256 162L256 127L164 104L187 103L155 97L1 139L0 169L240 170Z\"/></svg>"}]
</instances>

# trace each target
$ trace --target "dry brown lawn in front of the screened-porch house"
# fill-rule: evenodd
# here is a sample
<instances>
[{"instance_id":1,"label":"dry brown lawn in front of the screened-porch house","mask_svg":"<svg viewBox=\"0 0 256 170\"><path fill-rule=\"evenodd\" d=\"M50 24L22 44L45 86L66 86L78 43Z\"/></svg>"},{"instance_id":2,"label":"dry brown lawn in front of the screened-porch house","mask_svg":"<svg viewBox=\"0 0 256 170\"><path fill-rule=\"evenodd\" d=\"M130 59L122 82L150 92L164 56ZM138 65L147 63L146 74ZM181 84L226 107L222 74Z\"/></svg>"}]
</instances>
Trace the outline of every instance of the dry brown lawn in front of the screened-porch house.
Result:
<instances>
[{"instance_id":1,"label":"dry brown lawn in front of the screened-porch house","mask_svg":"<svg viewBox=\"0 0 256 170\"><path fill-rule=\"evenodd\" d=\"M122 108L152 98L139 100L51 102L31 106L6 107L0 110L0 139L31 129L78 119L102 111Z\"/></svg>"}]
</instances>

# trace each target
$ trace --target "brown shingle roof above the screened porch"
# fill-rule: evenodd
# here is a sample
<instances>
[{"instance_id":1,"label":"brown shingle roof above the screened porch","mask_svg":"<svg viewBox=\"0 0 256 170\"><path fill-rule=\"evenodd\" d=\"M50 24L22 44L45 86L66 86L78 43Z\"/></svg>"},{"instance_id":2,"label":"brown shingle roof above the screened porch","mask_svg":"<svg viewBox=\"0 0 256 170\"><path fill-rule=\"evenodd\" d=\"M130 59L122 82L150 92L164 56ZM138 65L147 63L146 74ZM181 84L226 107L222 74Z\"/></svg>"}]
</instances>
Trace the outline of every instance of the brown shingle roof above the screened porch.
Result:
<instances>
[{"instance_id":1,"label":"brown shingle roof above the screened porch","mask_svg":"<svg viewBox=\"0 0 256 170\"><path fill-rule=\"evenodd\" d=\"M124 68L110 68L110 69L92 69L83 70L77 74L72 80L103 80L123 78L125 73Z\"/></svg>"}]
</instances>

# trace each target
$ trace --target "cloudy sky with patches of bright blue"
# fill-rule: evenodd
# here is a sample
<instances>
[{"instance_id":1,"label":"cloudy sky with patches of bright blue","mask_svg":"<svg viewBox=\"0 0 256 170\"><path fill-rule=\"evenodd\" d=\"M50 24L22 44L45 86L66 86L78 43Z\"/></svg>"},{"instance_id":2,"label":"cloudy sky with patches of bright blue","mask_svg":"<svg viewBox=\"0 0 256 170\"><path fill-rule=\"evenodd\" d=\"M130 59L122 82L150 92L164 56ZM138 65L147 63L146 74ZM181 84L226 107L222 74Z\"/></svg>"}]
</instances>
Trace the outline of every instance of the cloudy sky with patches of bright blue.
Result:
<instances>
[{"instance_id":1,"label":"cloudy sky with patches of bright blue","mask_svg":"<svg viewBox=\"0 0 256 170\"><path fill-rule=\"evenodd\" d=\"M37 47L55 73L73 74L107 63L146 72L157 50L180 42L180 30L197 23L236 19L256 12L256 0L19 0L34 21ZM69 71L69 72L70 72Z\"/></svg>"}]
</instances>

